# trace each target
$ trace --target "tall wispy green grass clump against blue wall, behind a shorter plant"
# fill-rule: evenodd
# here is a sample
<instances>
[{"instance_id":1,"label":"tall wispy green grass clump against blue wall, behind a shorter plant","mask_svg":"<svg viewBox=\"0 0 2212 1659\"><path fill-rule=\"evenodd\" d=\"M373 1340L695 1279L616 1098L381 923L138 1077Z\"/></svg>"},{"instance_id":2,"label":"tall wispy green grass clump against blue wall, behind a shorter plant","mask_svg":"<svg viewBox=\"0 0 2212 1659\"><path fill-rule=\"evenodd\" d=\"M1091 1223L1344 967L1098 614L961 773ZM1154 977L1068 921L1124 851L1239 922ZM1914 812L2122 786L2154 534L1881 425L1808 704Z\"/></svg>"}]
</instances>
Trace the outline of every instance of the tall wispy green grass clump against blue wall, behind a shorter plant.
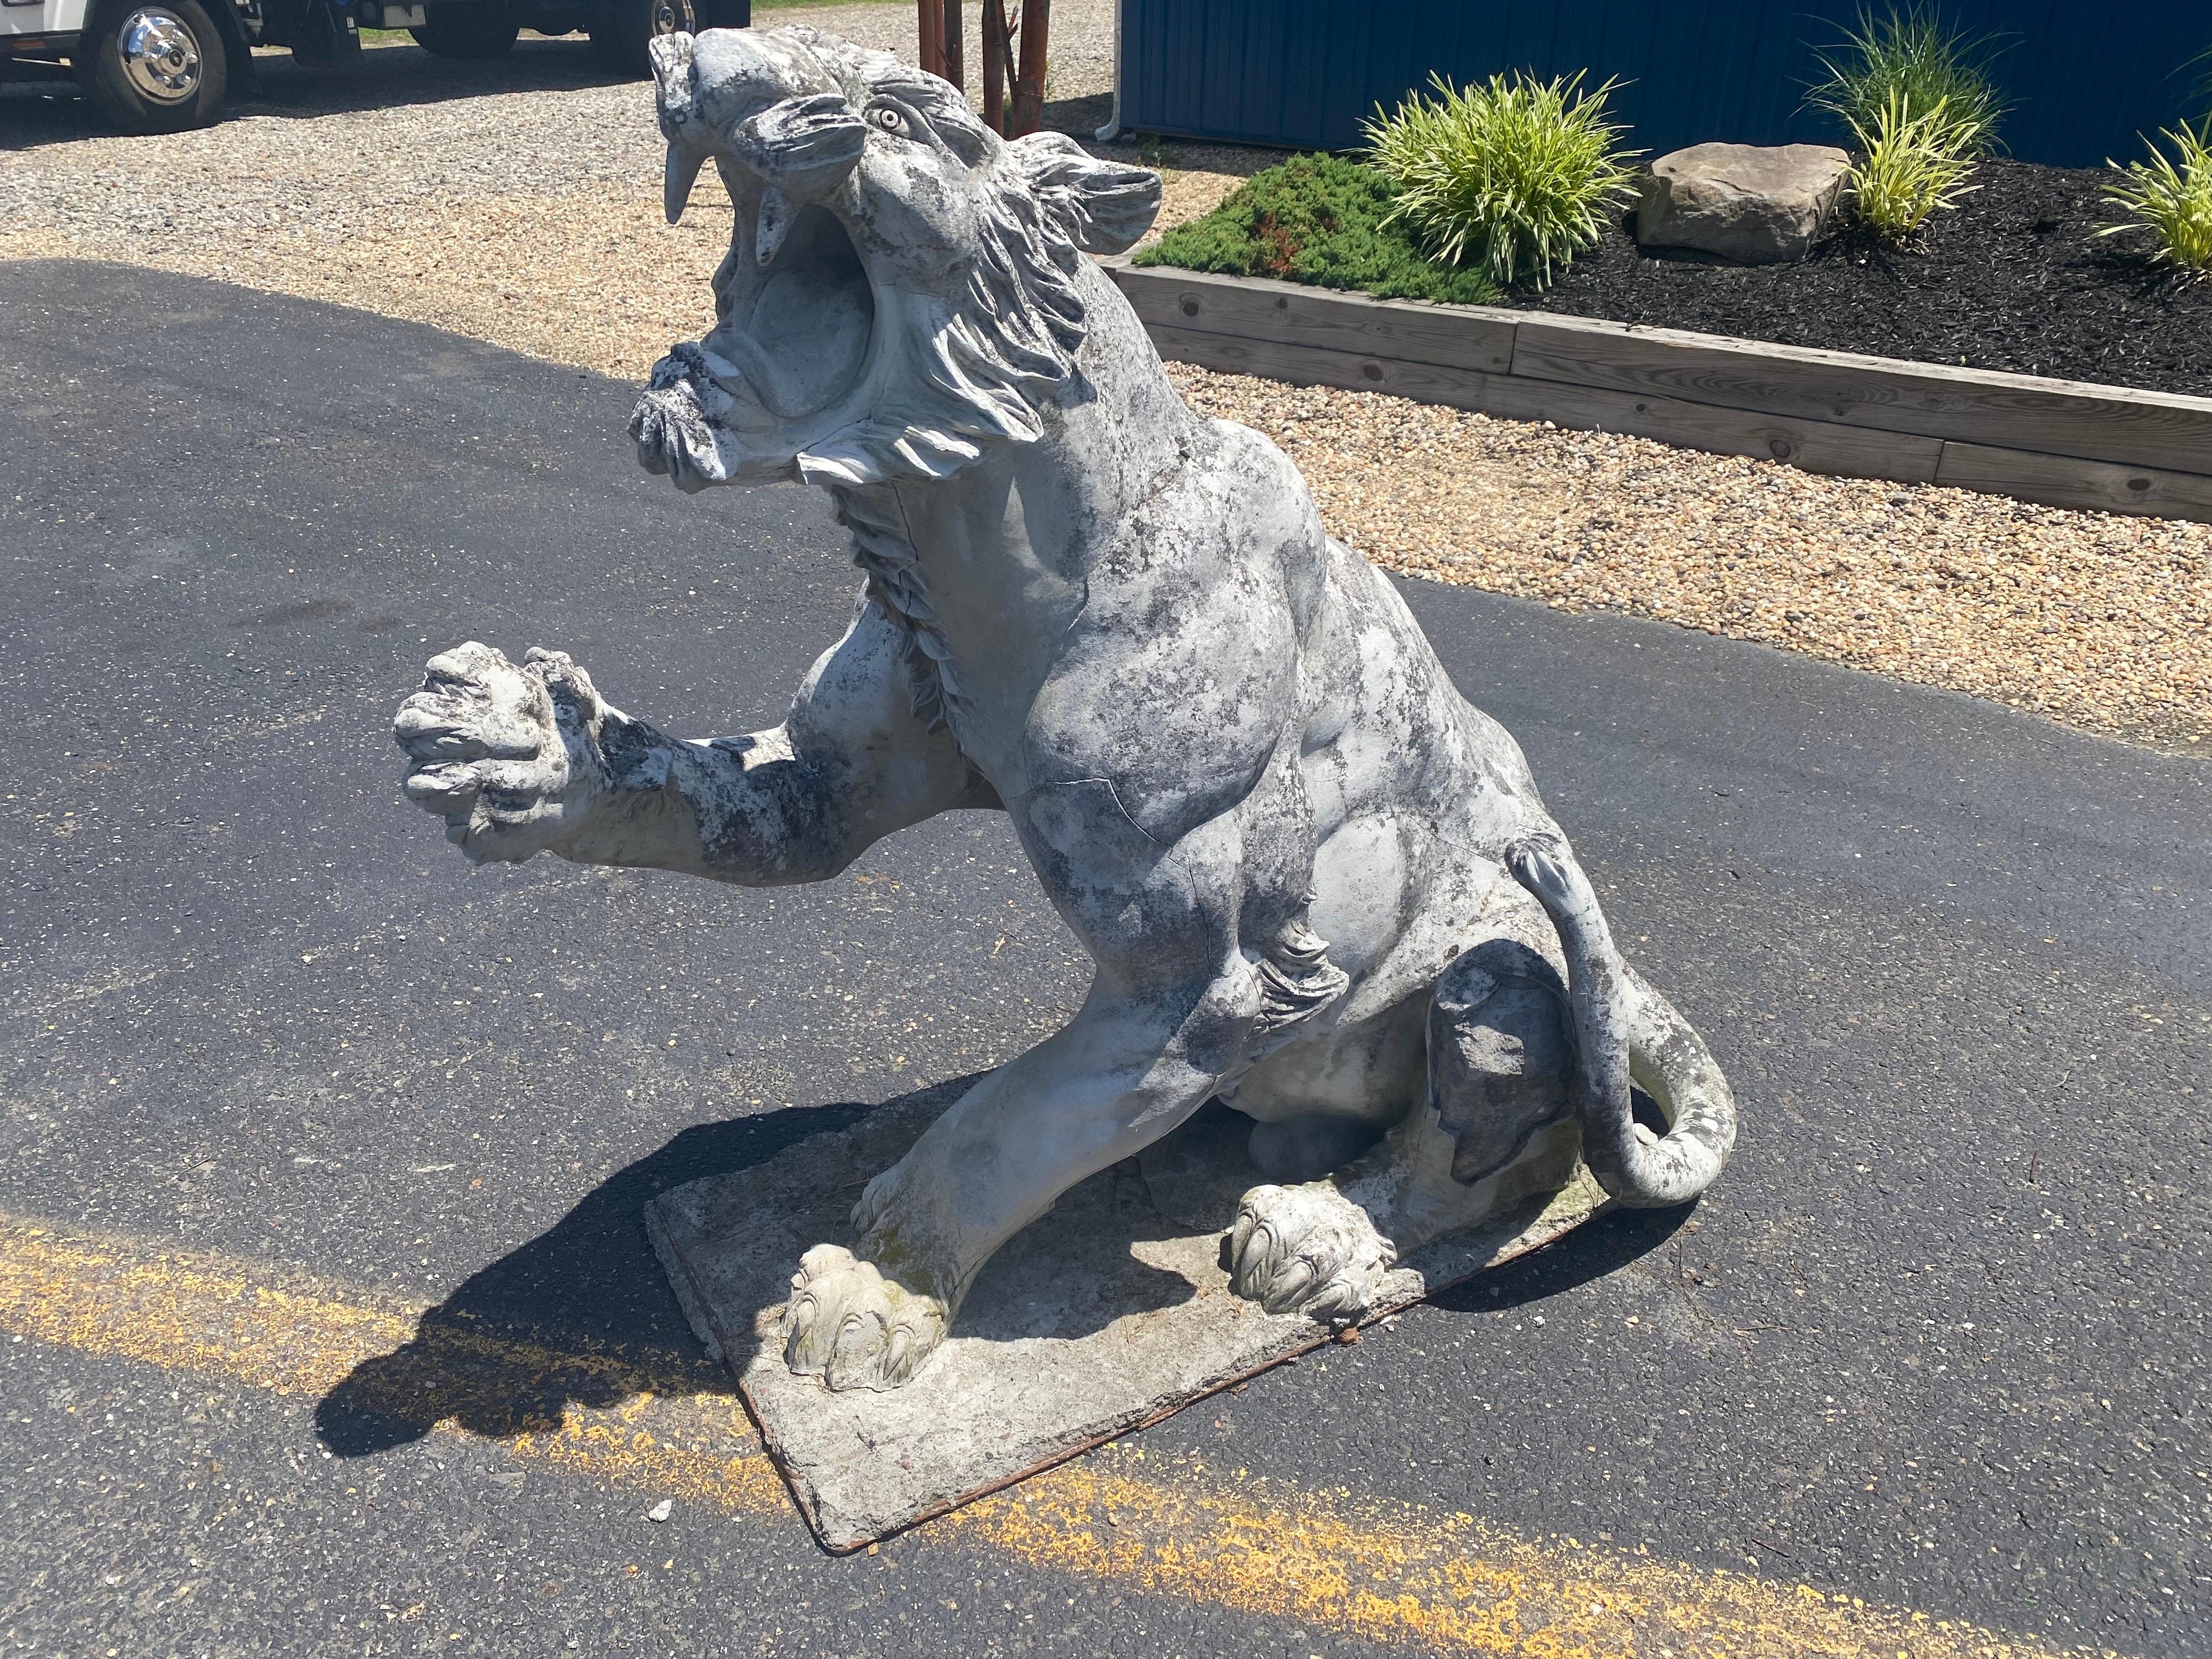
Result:
<instances>
[{"instance_id":1,"label":"tall wispy green grass clump against blue wall, behind a shorter plant","mask_svg":"<svg viewBox=\"0 0 2212 1659\"><path fill-rule=\"evenodd\" d=\"M1978 159L1997 148L1997 124L2004 119L2004 97L1989 77L1989 60L1997 38L1966 40L1942 20L1942 13L1911 0L1876 18L1858 13L1858 31L1845 31L1834 58L1820 53L1827 80L1812 88L1807 102L1832 111L1860 135L1880 128L1891 102L1905 119L1922 119L1949 111L1938 148L1960 159Z\"/></svg>"}]
</instances>

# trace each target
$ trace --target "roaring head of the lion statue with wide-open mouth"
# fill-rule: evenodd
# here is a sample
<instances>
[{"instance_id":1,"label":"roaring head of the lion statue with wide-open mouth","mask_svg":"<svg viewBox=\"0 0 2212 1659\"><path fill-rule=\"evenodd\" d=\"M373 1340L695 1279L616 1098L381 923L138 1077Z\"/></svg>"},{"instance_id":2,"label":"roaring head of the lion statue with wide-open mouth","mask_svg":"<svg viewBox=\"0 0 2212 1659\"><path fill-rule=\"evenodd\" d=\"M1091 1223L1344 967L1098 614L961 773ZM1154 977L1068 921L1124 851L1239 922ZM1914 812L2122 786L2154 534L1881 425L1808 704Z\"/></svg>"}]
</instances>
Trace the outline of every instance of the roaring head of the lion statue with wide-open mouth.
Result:
<instances>
[{"instance_id":1,"label":"roaring head of the lion statue with wide-open mouth","mask_svg":"<svg viewBox=\"0 0 2212 1659\"><path fill-rule=\"evenodd\" d=\"M945 478L1042 434L1086 334L1082 254L1146 232L1159 175L1002 139L949 82L814 29L664 35L653 75L668 219L712 161L734 223L712 332L630 418L648 471Z\"/></svg>"}]
</instances>

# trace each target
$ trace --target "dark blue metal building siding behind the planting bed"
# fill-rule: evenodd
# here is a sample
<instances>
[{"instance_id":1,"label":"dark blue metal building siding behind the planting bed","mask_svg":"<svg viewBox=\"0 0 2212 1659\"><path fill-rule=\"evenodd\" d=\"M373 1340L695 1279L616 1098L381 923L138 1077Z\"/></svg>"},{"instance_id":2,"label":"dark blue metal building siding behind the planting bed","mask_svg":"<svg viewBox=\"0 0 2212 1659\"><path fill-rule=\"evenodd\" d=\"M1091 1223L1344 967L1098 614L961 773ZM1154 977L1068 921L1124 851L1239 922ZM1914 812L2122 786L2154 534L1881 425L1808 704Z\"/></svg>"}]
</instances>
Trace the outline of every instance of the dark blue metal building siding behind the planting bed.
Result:
<instances>
[{"instance_id":1,"label":"dark blue metal building siding behind the planting bed","mask_svg":"<svg viewBox=\"0 0 2212 1659\"><path fill-rule=\"evenodd\" d=\"M1659 155L1732 139L1836 139L1803 108L1814 53L1860 0L1121 0L1121 122L1150 133L1349 148L1374 106L1431 71L1504 69L1628 82L1615 108ZM2095 166L2137 133L2203 113L2205 0L1949 0L1966 33L2000 33L2006 148Z\"/></svg>"}]
</instances>

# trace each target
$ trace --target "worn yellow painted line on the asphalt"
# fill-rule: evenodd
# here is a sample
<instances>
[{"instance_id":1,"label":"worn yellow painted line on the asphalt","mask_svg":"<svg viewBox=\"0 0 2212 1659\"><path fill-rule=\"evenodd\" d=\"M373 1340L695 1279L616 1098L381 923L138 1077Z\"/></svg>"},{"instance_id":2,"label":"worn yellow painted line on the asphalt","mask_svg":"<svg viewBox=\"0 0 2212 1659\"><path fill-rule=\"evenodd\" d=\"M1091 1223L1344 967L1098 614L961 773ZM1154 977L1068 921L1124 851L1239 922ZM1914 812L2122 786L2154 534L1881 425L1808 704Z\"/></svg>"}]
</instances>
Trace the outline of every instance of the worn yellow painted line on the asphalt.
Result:
<instances>
[{"instance_id":1,"label":"worn yellow painted line on the asphalt","mask_svg":"<svg viewBox=\"0 0 2212 1659\"><path fill-rule=\"evenodd\" d=\"M595 1352L243 1261L0 1214L0 1332L274 1394L345 1385L422 1427L549 1398L515 1458L728 1515L783 1515L783 1486L719 1374L679 1354ZM2055 1659L1958 1619L1701 1571L1469 1515L1314 1493L1117 1447L925 1526L1033 1568L1287 1617L1436 1652L1517 1659ZM911 1546L911 1544L909 1544ZM2068 1650L2079 1652L2079 1650Z\"/></svg>"}]
</instances>

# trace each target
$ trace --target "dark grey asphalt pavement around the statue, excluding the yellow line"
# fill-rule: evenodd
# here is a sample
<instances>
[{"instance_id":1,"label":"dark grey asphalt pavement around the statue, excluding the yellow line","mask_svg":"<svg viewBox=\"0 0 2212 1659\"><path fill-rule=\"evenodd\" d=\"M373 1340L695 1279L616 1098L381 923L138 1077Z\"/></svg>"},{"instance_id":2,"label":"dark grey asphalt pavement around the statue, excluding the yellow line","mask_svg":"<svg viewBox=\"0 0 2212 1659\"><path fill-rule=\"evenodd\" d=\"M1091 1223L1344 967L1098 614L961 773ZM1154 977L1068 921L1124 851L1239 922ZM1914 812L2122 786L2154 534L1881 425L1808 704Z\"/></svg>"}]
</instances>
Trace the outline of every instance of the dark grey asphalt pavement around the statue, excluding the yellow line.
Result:
<instances>
[{"instance_id":1,"label":"dark grey asphalt pavement around the statue, excluding the yellow line","mask_svg":"<svg viewBox=\"0 0 2212 1659\"><path fill-rule=\"evenodd\" d=\"M644 1197L1006 1060L1084 962L989 814L805 889L471 874L389 719L480 637L684 734L774 723L856 586L825 502L681 498L628 387L361 312L15 263L0 316L0 1210L712 1389ZM1405 593L1730 1071L1736 1159L1146 1451L2212 1650L2212 761ZM0 1354L20 1652L1365 1650L958 1533L830 1559L790 1513L507 1478L588 1378L456 1409Z\"/></svg>"}]
</instances>

